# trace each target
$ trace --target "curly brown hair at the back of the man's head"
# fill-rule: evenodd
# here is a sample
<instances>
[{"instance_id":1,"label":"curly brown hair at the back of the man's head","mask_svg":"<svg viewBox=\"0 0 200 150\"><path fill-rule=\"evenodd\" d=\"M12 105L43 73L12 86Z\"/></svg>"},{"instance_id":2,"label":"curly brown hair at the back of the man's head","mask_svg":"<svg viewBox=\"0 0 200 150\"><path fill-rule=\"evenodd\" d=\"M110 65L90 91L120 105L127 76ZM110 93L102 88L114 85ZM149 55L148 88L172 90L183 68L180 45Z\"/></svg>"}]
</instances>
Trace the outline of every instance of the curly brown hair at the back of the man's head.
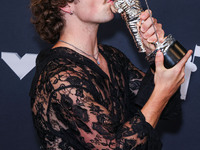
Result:
<instances>
[{"instance_id":1,"label":"curly brown hair at the back of the man's head","mask_svg":"<svg viewBox=\"0 0 200 150\"><path fill-rule=\"evenodd\" d=\"M30 8L33 17L31 22L35 25L40 37L54 44L60 37L64 26L64 19L60 11L67 3L74 0L31 0Z\"/></svg>"}]
</instances>

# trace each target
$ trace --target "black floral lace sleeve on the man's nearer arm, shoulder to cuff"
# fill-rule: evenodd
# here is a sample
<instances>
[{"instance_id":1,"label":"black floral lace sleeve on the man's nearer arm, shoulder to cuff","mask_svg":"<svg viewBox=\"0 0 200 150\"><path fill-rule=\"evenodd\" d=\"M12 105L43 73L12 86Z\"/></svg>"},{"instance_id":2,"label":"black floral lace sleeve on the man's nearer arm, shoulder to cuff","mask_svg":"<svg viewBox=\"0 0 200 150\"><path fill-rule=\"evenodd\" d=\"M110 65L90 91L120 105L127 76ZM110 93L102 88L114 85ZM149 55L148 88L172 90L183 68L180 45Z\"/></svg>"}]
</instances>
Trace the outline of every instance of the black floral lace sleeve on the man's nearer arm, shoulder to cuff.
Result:
<instances>
[{"instance_id":1,"label":"black floral lace sleeve on the man's nearer arm, shoulder to cuff","mask_svg":"<svg viewBox=\"0 0 200 150\"><path fill-rule=\"evenodd\" d=\"M48 82L41 80L47 78L44 73L40 77L32 109L44 149L145 149L153 129L140 112L116 125L107 108L96 102L86 79L79 76L81 71L55 70Z\"/></svg>"}]
</instances>

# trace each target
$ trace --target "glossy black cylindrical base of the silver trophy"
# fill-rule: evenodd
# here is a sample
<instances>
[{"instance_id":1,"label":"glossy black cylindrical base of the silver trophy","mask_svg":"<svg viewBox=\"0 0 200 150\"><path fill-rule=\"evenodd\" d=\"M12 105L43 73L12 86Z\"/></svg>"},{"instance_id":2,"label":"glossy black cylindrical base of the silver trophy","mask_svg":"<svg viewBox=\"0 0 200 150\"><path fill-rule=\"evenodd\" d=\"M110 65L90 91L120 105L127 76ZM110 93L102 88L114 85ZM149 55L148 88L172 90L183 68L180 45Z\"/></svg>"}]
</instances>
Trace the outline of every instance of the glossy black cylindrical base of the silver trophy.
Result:
<instances>
[{"instance_id":1,"label":"glossy black cylindrical base of the silver trophy","mask_svg":"<svg viewBox=\"0 0 200 150\"><path fill-rule=\"evenodd\" d=\"M163 52L165 68L169 69L175 66L186 53L187 50L178 41L174 41L169 48ZM150 63L150 67L155 71L155 59Z\"/></svg>"}]
</instances>

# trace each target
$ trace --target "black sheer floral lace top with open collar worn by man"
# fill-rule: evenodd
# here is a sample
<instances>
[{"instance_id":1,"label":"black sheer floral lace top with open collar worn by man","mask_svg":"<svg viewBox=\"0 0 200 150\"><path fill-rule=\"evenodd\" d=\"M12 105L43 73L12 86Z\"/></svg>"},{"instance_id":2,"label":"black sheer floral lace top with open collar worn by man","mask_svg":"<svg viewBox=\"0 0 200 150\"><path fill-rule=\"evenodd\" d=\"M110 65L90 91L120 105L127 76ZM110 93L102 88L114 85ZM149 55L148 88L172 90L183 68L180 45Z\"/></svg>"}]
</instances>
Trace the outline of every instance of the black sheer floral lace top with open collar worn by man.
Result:
<instances>
[{"instance_id":1,"label":"black sheer floral lace top with open collar worn by man","mask_svg":"<svg viewBox=\"0 0 200 150\"><path fill-rule=\"evenodd\" d=\"M153 74L145 76L113 47L100 45L99 51L110 79L92 60L66 47L38 55L30 97L41 149L161 149L140 112L153 90ZM165 118L179 110L175 99Z\"/></svg>"}]
</instances>

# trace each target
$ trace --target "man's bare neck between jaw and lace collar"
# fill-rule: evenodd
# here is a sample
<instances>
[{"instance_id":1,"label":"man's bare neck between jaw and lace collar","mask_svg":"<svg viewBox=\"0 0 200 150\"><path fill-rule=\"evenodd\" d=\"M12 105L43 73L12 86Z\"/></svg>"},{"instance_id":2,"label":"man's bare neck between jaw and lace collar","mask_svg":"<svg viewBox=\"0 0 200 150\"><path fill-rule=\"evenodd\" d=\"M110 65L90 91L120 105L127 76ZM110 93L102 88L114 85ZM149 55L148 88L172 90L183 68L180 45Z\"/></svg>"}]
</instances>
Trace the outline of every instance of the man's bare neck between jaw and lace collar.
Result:
<instances>
[{"instance_id":1,"label":"man's bare neck between jaw and lace collar","mask_svg":"<svg viewBox=\"0 0 200 150\"><path fill-rule=\"evenodd\" d=\"M98 51L98 27L99 24L89 24L84 22L69 23L64 27L60 39L76 46L87 54L94 55ZM66 44L63 44L64 43L57 43L56 45L66 46ZM68 45L68 47L70 46Z\"/></svg>"}]
</instances>

